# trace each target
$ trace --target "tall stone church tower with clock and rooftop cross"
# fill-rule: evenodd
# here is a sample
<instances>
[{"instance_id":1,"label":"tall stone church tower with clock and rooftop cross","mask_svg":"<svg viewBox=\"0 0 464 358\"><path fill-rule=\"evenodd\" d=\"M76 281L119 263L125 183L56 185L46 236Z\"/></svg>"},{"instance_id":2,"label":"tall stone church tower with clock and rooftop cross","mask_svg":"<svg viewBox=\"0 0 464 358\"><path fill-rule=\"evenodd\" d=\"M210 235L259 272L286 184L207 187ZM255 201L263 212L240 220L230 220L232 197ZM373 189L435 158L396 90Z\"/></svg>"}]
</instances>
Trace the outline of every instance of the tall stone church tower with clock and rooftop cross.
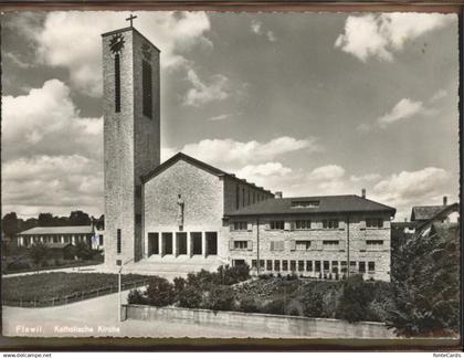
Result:
<instances>
[{"instance_id":1,"label":"tall stone church tower with clock and rooftop cross","mask_svg":"<svg viewBox=\"0 0 464 358\"><path fill-rule=\"evenodd\" d=\"M160 162L159 50L133 25L102 34L105 264L143 257L140 176Z\"/></svg>"}]
</instances>

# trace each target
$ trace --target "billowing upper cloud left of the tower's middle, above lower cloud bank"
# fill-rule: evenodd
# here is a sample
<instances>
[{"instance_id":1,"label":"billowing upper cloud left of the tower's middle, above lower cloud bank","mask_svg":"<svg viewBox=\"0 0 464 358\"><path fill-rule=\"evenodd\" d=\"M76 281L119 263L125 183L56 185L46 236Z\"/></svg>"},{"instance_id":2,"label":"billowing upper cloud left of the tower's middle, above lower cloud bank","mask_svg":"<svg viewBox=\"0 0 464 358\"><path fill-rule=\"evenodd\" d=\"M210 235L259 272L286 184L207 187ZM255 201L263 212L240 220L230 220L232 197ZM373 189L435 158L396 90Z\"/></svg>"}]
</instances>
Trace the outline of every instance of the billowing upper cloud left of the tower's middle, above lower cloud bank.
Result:
<instances>
[{"instance_id":1,"label":"billowing upper cloud left of the tower's middle, above lower cloud bank","mask_svg":"<svg viewBox=\"0 0 464 358\"><path fill-rule=\"evenodd\" d=\"M70 88L46 81L27 95L4 96L2 157L34 155L102 156L103 118L81 117Z\"/></svg>"}]
</instances>

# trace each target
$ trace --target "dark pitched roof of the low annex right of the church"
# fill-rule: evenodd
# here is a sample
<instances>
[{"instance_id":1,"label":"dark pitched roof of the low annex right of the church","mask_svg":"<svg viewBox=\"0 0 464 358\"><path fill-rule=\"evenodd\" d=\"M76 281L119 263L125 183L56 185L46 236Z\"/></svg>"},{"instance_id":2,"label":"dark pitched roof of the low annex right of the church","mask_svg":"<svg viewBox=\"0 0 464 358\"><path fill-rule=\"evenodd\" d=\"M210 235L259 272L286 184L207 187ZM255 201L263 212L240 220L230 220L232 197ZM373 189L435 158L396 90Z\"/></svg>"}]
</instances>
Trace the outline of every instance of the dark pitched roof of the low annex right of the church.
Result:
<instances>
[{"instance_id":1,"label":"dark pitched roof of the low annex right of the church","mask_svg":"<svg viewBox=\"0 0 464 358\"><path fill-rule=\"evenodd\" d=\"M318 202L318 206L297 208L292 202ZM326 196L267 199L259 203L232 211L226 217L262 215L262 214L302 214L302 213L341 213L388 211L394 215L397 209L358 196Z\"/></svg>"}]
</instances>

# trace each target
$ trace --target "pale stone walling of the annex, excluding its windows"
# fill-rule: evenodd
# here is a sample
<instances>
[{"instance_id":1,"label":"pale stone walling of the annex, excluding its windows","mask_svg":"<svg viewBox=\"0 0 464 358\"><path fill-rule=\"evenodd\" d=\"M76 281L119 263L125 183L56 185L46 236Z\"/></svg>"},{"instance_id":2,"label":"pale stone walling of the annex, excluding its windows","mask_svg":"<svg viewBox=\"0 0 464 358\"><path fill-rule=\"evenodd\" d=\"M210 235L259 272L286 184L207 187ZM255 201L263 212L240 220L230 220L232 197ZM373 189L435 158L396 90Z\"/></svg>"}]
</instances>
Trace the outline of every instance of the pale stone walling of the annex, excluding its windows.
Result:
<instances>
[{"instance_id":1,"label":"pale stone walling of the annex, excluding its windows","mask_svg":"<svg viewBox=\"0 0 464 358\"><path fill-rule=\"evenodd\" d=\"M383 218L383 228L371 229L366 228L366 218ZM324 219L338 219L339 228L337 229L324 229ZM233 241L247 241L249 248L245 250L231 250L232 260L245 260L246 263L252 266L253 260L272 260L273 264L275 260L287 260L288 270L283 273L291 272L289 261L313 261L313 273L304 272L305 275L318 276L318 273L314 272L314 261L320 261L321 266L324 261L329 261L329 270L326 274L333 272L333 261L338 262L338 272L341 275L340 263L342 261L356 262L356 267L352 267L356 272L359 271L359 262L366 262L366 274L365 280L370 277L375 280L390 281L390 218L388 214L375 213L375 214L350 214L349 224L347 224L346 215L327 214L327 215L312 215L312 217L295 217L295 215L278 215L267 218L235 218L230 220L230 248L233 246ZM234 231L233 222L246 221L247 230ZM271 230L270 221L280 220L285 221L284 230ZM309 230L296 230L296 220L310 220L312 229ZM348 228L349 227L349 228ZM349 230L348 230L349 229ZM347 240L349 235L349 241ZM296 241L310 241L308 250L298 250L296 248ZM324 241L336 240L339 242L338 246L328 249L324 245ZM381 248L368 248L367 240L382 240L383 245ZM274 250L272 250L272 243ZM348 243L349 243L349 259L348 259ZM250 248L251 245L251 248ZM281 245L281 246L280 246ZM276 248L282 250L276 250ZM368 272L368 262L375 262L375 272ZM264 267L260 272L275 272L274 270L266 270L267 263L264 262ZM321 267L321 271L324 268ZM282 262L281 262L282 271ZM296 267L295 271L298 271ZM306 266L305 266L306 271ZM324 274L324 271L323 271Z\"/></svg>"}]
</instances>

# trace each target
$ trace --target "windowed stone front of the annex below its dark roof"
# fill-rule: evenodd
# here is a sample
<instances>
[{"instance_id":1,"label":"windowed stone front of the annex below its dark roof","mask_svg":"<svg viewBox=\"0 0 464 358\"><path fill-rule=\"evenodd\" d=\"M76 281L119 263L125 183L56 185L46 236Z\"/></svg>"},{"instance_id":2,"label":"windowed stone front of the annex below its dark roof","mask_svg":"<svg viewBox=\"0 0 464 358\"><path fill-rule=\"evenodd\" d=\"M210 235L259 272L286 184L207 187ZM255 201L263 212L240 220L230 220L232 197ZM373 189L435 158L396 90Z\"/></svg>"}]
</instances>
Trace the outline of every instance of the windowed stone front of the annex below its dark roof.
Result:
<instances>
[{"instance_id":1,"label":"windowed stone front of the annex below its dark roof","mask_svg":"<svg viewBox=\"0 0 464 358\"><path fill-rule=\"evenodd\" d=\"M383 224L366 228L367 218L382 218ZM324 229L325 219L338 219L338 228ZM310 221L310 229L297 230L297 220ZM272 230L271 221L284 221L284 229ZM246 223L246 229L234 230L235 222ZM235 241L246 243L238 248ZM303 248L306 242L308 246ZM390 281L390 217L386 213L233 218L230 220L229 248L233 263L244 261L255 273L295 272L310 277L331 273L335 277L337 272L341 277L348 274L348 262L352 262L351 273L363 271L365 280ZM328 262L326 270L325 261ZM320 263L320 270L316 270L316 262ZM363 262L363 268L360 262ZM372 262L373 270L369 270Z\"/></svg>"}]
</instances>

